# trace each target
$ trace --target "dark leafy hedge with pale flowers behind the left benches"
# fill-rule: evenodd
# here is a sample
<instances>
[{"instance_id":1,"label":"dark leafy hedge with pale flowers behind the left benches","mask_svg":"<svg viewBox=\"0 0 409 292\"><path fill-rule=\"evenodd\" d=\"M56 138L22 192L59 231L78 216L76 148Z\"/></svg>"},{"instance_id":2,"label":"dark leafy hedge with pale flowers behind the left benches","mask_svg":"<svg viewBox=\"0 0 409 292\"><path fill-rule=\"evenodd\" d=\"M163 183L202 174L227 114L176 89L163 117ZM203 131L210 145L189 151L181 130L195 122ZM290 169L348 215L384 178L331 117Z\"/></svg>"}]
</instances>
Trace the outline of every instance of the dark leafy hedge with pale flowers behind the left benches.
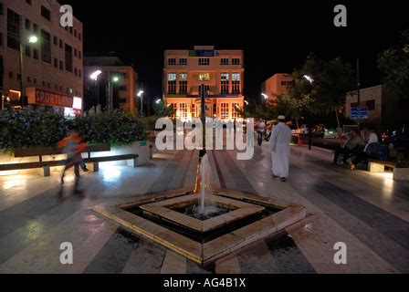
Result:
<instances>
[{"instance_id":1,"label":"dark leafy hedge with pale flowers behind the left benches","mask_svg":"<svg viewBox=\"0 0 409 292\"><path fill-rule=\"evenodd\" d=\"M0 112L0 149L53 147L76 126L90 144L130 145L144 140L145 123L125 111L101 112L74 119L51 111Z\"/></svg>"}]
</instances>

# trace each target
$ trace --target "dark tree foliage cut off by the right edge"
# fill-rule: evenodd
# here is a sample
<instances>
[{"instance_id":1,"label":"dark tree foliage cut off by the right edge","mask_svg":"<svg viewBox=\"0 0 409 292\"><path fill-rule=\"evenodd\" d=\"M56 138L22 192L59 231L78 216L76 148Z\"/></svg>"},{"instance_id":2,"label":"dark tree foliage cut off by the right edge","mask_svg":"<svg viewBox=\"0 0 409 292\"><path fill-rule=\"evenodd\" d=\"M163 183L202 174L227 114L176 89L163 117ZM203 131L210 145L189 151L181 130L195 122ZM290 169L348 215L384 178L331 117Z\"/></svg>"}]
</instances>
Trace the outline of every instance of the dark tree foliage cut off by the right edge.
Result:
<instances>
[{"instance_id":1,"label":"dark tree foliage cut off by the right edge","mask_svg":"<svg viewBox=\"0 0 409 292\"><path fill-rule=\"evenodd\" d=\"M383 83L395 89L401 99L409 99L409 29L401 33L397 47L391 47L378 55L378 68Z\"/></svg>"}]
</instances>

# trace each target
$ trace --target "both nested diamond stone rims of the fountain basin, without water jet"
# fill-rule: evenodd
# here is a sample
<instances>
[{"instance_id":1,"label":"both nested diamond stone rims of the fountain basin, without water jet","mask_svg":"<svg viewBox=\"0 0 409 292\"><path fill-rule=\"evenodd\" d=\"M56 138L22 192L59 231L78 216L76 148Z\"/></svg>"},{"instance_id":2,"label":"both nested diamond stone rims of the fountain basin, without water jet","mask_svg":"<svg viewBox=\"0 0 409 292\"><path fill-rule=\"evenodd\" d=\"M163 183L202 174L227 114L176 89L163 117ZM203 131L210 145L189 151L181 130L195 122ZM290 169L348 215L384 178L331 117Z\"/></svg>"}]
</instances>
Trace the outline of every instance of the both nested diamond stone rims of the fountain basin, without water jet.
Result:
<instances>
[{"instance_id":1,"label":"both nested diamond stone rims of the fountain basin, without water jet","mask_svg":"<svg viewBox=\"0 0 409 292\"><path fill-rule=\"evenodd\" d=\"M275 235L306 216L306 210L303 206L274 198L225 189L215 189L213 200L219 204L232 207L234 210L229 213L201 221L172 209L197 202L197 200L199 200L199 195L194 194L193 190L181 189L144 196L131 202L100 205L94 207L93 210L97 214L120 224L132 233L142 235L202 266L234 253L246 245ZM135 207L141 208L144 213L204 234L216 228L223 229L224 225L235 224L237 220L263 212L265 208L276 208L278 212L261 217L255 222L201 243L184 234L175 232L165 225L157 224L149 220L149 218L129 212Z\"/></svg>"}]
</instances>

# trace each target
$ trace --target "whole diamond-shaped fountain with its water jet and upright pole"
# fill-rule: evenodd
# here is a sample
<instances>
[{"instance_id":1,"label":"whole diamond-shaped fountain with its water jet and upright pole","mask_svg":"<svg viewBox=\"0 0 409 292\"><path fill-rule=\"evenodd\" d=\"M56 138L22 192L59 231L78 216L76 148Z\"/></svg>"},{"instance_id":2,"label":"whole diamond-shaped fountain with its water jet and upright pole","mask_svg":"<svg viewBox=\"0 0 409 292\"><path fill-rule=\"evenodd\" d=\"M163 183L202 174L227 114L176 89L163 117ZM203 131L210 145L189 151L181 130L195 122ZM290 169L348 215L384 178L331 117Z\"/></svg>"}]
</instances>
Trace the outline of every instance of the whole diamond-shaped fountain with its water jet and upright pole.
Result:
<instances>
[{"instance_id":1,"label":"whole diamond-shaped fountain with its water jet and upright pole","mask_svg":"<svg viewBox=\"0 0 409 292\"><path fill-rule=\"evenodd\" d=\"M204 94L202 113L205 120ZM210 172L204 149L199 153L194 188L103 204L93 210L201 266L276 235L306 215L305 208L294 203L212 187Z\"/></svg>"}]
</instances>

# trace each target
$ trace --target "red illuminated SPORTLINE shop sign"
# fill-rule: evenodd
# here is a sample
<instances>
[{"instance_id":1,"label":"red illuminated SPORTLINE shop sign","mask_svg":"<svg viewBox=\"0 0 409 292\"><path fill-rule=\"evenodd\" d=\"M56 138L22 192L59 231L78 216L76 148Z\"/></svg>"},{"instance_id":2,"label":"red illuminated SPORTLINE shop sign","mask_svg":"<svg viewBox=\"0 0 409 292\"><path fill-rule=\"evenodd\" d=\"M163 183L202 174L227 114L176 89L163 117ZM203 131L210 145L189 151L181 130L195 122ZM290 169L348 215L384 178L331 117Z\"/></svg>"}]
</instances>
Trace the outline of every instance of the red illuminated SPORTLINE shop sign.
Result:
<instances>
[{"instance_id":1,"label":"red illuminated SPORTLINE shop sign","mask_svg":"<svg viewBox=\"0 0 409 292\"><path fill-rule=\"evenodd\" d=\"M28 103L49 107L72 108L74 97L45 89L26 89Z\"/></svg>"}]
</instances>

